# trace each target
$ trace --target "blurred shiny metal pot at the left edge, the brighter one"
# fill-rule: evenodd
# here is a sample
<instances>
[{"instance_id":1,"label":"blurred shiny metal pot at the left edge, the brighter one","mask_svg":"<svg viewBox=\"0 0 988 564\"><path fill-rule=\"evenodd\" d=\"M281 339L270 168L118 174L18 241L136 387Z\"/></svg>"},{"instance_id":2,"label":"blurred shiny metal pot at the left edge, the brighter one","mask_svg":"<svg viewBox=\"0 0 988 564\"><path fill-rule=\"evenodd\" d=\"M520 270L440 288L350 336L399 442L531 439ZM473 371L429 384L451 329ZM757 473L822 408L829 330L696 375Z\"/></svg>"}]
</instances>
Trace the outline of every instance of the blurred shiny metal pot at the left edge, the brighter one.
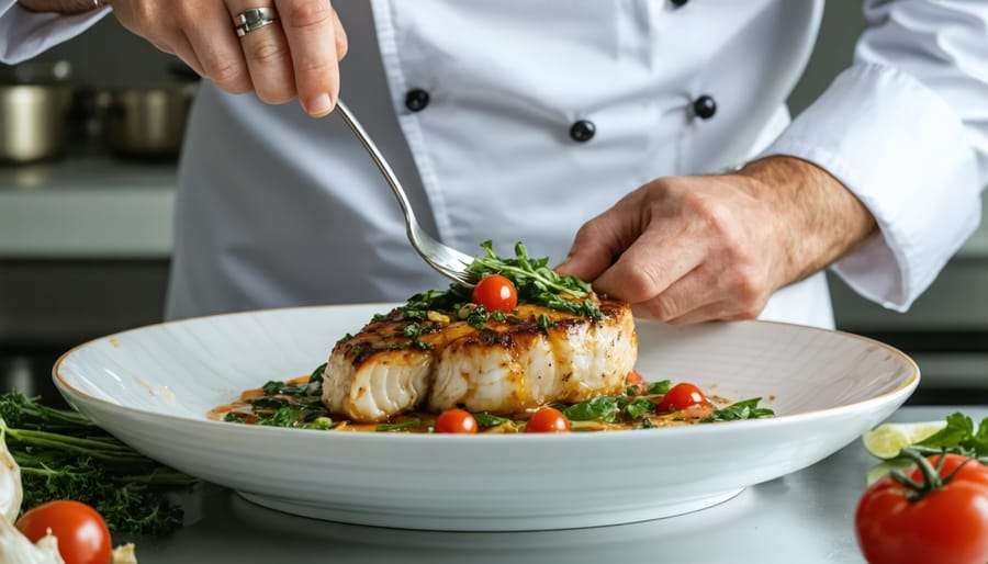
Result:
<instances>
[{"instance_id":1,"label":"blurred shiny metal pot at the left edge, the brighter one","mask_svg":"<svg viewBox=\"0 0 988 564\"><path fill-rule=\"evenodd\" d=\"M74 89L65 61L5 67L0 76L0 161L61 156Z\"/></svg>"}]
</instances>

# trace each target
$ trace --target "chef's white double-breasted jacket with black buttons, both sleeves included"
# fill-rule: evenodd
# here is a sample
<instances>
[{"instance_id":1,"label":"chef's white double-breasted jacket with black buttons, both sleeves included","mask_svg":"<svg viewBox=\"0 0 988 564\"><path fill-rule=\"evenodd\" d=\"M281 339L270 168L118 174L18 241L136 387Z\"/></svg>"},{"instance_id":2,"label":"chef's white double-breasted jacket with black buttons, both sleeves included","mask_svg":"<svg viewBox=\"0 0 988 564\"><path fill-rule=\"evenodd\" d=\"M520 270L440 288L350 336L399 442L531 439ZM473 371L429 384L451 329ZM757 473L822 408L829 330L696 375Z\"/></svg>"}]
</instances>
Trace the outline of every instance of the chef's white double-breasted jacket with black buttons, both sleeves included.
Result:
<instances>
[{"instance_id":1,"label":"chef's white double-breasted jacket with black buttons, both sleeves included","mask_svg":"<svg viewBox=\"0 0 988 564\"><path fill-rule=\"evenodd\" d=\"M261 2L265 3L265 2ZM880 234L832 268L903 311L976 228L988 182L988 2L871 0L853 64L790 123L823 0L337 0L341 97L427 230L469 253L562 260L576 229L659 177L800 157L840 179ZM0 58L109 9L31 14L0 0ZM260 32L263 33L263 32ZM712 115L711 115L711 109ZM592 133L592 135L591 135ZM204 83L179 166L167 315L403 301L445 287L398 206L330 114ZM763 318L832 326L822 273Z\"/></svg>"}]
</instances>

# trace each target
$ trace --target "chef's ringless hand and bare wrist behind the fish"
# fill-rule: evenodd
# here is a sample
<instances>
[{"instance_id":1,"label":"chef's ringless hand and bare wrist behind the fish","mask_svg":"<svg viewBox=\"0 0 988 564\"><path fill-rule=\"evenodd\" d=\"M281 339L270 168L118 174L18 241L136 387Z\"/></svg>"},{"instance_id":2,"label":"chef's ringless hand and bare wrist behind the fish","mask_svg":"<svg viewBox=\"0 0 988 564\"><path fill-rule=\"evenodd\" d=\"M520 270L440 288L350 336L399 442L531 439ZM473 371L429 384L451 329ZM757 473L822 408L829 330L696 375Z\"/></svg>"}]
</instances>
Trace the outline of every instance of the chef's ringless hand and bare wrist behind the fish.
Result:
<instances>
[{"instance_id":1,"label":"chef's ringless hand and bare wrist behind the fish","mask_svg":"<svg viewBox=\"0 0 988 564\"><path fill-rule=\"evenodd\" d=\"M587 222L565 274L673 324L754 318L776 290L877 229L862 203L807 161L768 157L736 173L654 180Z\"/></svg>"}]
</instances>

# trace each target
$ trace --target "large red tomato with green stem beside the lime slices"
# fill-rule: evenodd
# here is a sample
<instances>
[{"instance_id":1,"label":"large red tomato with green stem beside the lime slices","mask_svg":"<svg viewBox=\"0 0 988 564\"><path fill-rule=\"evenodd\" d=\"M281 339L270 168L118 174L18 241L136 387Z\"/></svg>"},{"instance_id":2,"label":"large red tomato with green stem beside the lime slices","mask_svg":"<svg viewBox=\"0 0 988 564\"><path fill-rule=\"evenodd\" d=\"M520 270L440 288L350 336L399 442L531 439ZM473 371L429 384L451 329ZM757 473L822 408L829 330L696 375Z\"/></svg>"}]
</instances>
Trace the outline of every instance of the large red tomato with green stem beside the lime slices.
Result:
<instances>
[{"instance_id":1,"label":"large red tomato with green stem beside the lime slices","mask_svg":"<svg viewBox=\"0 0 988 564\"><path fill-rule=\"evenodd\" d=\"M939 456L929 459L934 467ZM967 460L947 454L940 476ZM917 467L907 473L923 482ZM988 562L988 466L970 461L939 489L909 499L910 489L885 476L865 490L854 516L857 544L869 564Z\"/></svg>"}]
</instances>

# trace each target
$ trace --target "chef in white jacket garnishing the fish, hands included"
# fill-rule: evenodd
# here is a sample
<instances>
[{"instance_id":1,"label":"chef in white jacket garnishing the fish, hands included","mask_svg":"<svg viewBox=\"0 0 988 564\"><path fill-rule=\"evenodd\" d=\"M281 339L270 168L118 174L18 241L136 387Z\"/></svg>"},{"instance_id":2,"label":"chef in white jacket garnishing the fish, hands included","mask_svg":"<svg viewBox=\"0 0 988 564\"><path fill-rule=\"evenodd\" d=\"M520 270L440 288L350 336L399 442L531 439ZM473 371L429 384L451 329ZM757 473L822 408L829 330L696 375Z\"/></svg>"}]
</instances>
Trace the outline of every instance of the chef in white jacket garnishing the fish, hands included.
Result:
<instances>
[{"instance_id":1,"label":"chef in white jacket garnishing the fish, hands included","mask_svg":"<svg viewBox=\"0 0 988 564\"><path fill-rule=\"evenodd\" d=\"M671 323L833 325L823 271L905 311L978 225L988 3L869 0L790 120L823 0L0 0L16 63L112 12L206 80L179 163L170 318L445 287L419 221L515 241Z\"/></svg>"}]
</instances>

